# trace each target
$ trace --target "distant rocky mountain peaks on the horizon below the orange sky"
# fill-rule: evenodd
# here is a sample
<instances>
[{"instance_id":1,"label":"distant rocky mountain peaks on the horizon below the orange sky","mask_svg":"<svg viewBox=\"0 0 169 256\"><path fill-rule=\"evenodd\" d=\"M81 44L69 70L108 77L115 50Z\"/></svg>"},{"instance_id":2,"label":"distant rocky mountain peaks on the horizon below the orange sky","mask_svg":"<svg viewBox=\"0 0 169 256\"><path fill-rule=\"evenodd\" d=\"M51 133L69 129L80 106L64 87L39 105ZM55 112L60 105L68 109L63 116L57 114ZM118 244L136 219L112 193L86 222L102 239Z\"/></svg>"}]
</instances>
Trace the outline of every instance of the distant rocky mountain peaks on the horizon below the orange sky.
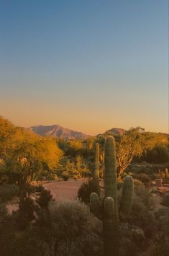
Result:
<instances>
[{"instance_id":1,"label":"distant rocky mountain peaks on the horizon below the orange sky","mask_svg":"<svg viewBox=\"0 0 169 256\"><path fill-rule=\"evenodd\" d=\"M68 128L63 128L60 125L35 125L32 127L29 127L29 131L32 131L34 133L37 133L40 136L50 136L54 138L65 138L65 139L85 139L89 138L90 136L81 133L79 131L73 131ZM112 128L109 131L106 132L111 132L114 134L119 134L122 135L126 130L122 128Z\"/></svg>"}]
</instances>

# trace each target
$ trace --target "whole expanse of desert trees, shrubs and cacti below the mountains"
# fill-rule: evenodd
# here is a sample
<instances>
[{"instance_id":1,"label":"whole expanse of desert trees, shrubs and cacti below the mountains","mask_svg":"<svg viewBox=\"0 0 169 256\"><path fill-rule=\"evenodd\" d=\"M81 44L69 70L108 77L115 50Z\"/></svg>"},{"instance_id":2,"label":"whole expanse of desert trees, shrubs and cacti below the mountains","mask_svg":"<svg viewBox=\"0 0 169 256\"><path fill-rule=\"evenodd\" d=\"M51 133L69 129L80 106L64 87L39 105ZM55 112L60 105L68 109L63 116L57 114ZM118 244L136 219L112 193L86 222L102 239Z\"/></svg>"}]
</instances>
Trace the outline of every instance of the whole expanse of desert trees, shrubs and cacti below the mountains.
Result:
<instances>
[{"instance_id":1,"label":"whole expanse of desert trees, shrubs and cacti below the mountains","mask_svg":"<svg viewBox=\"0 0 169 256\"><path fill-rule=\"evenodd\" d=\"M157 177L168 182L167 135L132 128L114 136L115 157L110 133L65 141L4 118L0 127L2 256L169 254L168 193L150 189ZM73 201L55 201L45 187L32 185L81 177L88 181ZM9 214L6 202L14 196L19 208Z\"/></svg>"}]
</instances>

